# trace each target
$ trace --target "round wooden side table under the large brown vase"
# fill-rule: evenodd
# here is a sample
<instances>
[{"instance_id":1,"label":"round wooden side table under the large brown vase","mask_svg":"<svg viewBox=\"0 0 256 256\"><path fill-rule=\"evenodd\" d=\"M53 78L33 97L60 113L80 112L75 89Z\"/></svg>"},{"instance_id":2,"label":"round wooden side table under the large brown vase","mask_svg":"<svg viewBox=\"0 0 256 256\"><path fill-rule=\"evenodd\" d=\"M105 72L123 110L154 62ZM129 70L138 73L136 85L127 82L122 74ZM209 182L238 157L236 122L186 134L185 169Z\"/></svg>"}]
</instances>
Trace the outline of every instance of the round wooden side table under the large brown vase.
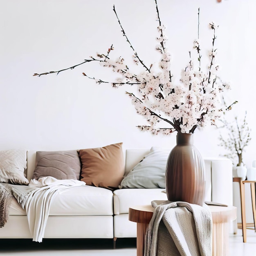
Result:
<instances>
[{"instance_id":1,"label":"round wooden side table under the large brown vase","mask_svg":"<svg viewBox=\"0 0 256 256\"><path fill-rule=\"evenodd\" d=\"M209 205L213 218L212 256L229 255L229 221L236 220L236 207ZM137 256L144 256L145 235L153 216L151 205L129 208L129 220L137 222Z\"/></svg>"}]
</instances>

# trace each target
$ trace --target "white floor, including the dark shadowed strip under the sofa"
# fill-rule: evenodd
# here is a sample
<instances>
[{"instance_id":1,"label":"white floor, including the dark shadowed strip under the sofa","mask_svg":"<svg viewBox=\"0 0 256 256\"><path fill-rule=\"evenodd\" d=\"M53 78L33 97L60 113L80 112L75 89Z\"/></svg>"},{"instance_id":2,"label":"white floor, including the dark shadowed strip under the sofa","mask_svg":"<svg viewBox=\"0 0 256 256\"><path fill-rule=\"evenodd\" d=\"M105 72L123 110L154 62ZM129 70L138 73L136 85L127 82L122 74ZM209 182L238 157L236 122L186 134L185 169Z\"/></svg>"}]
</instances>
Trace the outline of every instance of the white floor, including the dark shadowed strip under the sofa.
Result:
<instances>
[{"instance_id":1,"label":"white floor, including the dark shadowed strip under the sofa","mask_svg":"<svg viewBox=\"0 0 256 256\"><path fill-rule=\"evenodd\" d=\"M117 248L112 249L112 240L52 240L33 243L31 240L0 240L1 256L136 256L136 239L117 239ZM247 229L247 243L243 243L242 230L229 236L230 256L256 256L256 233ZM221 256L221 255L220 255Z\"/></svg>"}]
</instances>

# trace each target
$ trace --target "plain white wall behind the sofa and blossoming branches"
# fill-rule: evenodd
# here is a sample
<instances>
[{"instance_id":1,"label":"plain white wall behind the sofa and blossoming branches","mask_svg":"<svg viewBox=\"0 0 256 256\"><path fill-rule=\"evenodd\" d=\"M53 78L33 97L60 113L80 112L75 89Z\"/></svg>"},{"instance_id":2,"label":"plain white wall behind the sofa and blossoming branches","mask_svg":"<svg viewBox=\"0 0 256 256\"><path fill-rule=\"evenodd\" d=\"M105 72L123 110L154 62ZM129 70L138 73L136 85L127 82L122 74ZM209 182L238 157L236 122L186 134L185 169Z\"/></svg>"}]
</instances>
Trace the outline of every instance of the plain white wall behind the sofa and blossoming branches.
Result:
<instances>
[{"instance_id":1,"label":"plain white wall behind the sofa and blossoming branches","mask_svg":"<svg viewBox=\"0 0 256 256\"><path fill-rule=\"evenodd\" d=\"M83 62L97 52L105 53L111 44L115 56L130 61L132 52L112 11L113 4L139 56L147 64L157 62L154 0L1 1L0 150L69 150L121 141L124 149L175 145L175 134L153 136L136 128L145 121L124 93L130 88L96 85L82 75L85 72L111 81L115 75L110 70L86 64L58 76L32 76ZM220 75L233 83L227 98L239 101L233 112L243 117L247 110L252 141L244 162L251 166L256 159L255 0L158 0L158 7L167 27L177 79L197 37L198 7L204 54L212 40L208 23L220 25L216 42ZM195 146L204 157L218 157L218 134L215 127L196 130Z\"/></svg>"}]
</instances>

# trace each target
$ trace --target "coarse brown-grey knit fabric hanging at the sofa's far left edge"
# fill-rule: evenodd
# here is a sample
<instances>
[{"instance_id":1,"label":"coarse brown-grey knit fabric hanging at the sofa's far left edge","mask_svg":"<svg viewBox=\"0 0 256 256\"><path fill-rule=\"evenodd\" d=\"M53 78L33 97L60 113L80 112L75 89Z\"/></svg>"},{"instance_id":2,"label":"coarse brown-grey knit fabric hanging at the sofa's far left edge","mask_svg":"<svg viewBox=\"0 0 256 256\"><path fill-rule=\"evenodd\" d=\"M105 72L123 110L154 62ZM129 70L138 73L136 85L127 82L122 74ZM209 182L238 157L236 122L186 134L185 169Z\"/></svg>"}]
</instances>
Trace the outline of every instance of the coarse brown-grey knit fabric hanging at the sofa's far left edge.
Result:
<instances>
[{"instance_id":1,"label":"coarse brown-grey knit fabric hanging at the sofa's far left edge","mask_svg":"<svg viewBox=\"0 0 256 256\"><path fill-rule=\"evenodd\" d=\"M9 219L9 209L13 195L0 184L0 227Z\"/></svg>"}]
</instances>

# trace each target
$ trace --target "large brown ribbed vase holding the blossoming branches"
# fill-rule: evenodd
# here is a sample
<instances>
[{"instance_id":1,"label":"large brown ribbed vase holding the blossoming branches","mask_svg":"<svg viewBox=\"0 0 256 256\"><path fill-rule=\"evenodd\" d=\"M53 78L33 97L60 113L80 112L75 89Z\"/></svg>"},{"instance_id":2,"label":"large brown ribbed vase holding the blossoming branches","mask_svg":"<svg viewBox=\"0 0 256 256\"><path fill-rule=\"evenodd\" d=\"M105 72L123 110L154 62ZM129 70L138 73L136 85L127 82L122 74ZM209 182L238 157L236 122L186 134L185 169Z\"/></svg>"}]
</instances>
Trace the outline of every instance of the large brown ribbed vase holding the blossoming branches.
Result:
<instances>
[{"instance_id":1,"label":"large brown ribbed vase holding the blossoming branches","mask_svg":"<svg viewBox=\"0 0 256 256\"><path fill-rule=\"evenodd\" d=\"M205 165L193 145L193 134L177 134L177 145L168 156L165 182L169 201L204 204Z\"/></svg>"}]
</instances>

